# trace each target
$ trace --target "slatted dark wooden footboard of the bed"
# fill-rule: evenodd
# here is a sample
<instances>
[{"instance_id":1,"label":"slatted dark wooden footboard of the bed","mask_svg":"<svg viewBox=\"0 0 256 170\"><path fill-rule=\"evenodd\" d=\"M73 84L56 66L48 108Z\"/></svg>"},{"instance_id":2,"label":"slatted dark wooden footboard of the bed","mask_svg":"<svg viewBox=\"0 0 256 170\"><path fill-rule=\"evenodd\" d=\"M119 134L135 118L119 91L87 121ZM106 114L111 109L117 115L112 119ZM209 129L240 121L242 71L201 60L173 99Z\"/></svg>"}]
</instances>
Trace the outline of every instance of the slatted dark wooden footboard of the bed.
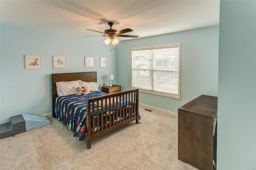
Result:
<instances>
[{"instance_id":1,"label":"slatted dark wooden footboard of the bed","mask_svg":"<svg viewBox=\"0 0 256 170\"><path fill-rule=\"evenodd\" d=\"M138 89L132 89L87 100L87 115L92 115L86 116L87 149L92 140L132 121L139 123L138 93Z\"/></svg>"}]
</instances>

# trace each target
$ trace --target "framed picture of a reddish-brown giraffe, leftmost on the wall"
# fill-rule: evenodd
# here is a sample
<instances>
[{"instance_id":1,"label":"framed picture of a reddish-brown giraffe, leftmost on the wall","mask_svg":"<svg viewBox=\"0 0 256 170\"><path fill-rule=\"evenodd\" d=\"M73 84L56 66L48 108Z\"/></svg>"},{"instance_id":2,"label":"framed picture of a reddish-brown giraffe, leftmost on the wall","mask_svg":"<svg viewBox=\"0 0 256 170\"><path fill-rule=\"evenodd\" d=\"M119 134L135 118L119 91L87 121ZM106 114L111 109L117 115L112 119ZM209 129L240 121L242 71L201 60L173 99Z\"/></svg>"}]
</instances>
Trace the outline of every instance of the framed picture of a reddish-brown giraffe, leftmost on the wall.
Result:
<instances>
[{"instance_id":1,"label":"framed picture of a reddish-brown giraffe, leftmost on the wall","mask_svg":"<svg viewBox=\"0 0 256 170\"><path fill-rule=\"evenodd\" d=\"M42 69L42 55L25 55L26 69Z\"/></svg>"}]
</instances>

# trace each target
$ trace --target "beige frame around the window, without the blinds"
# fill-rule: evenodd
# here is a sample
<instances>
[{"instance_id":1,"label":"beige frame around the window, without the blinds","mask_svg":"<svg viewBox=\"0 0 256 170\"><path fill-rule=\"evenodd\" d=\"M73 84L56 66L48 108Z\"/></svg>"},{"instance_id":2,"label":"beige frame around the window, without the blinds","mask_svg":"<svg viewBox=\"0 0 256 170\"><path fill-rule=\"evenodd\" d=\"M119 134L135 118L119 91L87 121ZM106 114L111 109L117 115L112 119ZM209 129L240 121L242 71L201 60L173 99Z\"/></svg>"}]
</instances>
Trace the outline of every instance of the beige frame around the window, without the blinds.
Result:
<instances>
[{"instance_id":1,"label":"beige frame around the window, without the blinds","mask_svg":"<svg viewBox=\"0 0 256 170\"><path fill-rule=\"evenodd\" d=\"M137 89L138 87L132 87L132 51L139 51L139 50L150 50L150 49L164 49L164 48L172 48L172 47L177 47L178 46L178 95L174 95L171 93L164 93L164 92L159 92L159 91L154 91L154 90L146 90L146 89L141 89L138 88L140 92L144 92L144 93L150 93L150 94L154 94L154 95L160 95L160 96L164 96L164 97L170 97L170 98L174 98L174 99L180 99L180 45L181 43L170 43L170 44L162 44L162 45L150 45L150 46L143 46L143 47L131 47L130 49L130 55L131 55L131 79L130 79L130 83L131 83L131 88L132 89Z\"/></svg>"}]
</instances>

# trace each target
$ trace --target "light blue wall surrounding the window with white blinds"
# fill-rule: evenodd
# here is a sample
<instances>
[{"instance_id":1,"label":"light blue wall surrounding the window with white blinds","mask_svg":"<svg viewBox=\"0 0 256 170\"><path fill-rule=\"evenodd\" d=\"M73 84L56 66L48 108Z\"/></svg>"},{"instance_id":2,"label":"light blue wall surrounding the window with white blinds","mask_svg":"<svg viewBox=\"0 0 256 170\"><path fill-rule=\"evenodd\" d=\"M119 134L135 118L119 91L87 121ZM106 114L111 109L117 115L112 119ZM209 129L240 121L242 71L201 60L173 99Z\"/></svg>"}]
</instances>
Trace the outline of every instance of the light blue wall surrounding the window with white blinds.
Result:
<instances>
[{"instance_id":1,"label":"light blue wall surrounding the window with white blinds","mask_svg":"<svg viewBox=\"0 0 256 170\"><path fill-rule=\"evenodd\" d=\"M181 43L181 98L140 92L140 103L178 113L178 108L204 94L218 96L219 27L128 40L117 49L118 85L131 87L131 47ZM125 76L124 76L125 75Z\"/></svg>"}]
</instances>

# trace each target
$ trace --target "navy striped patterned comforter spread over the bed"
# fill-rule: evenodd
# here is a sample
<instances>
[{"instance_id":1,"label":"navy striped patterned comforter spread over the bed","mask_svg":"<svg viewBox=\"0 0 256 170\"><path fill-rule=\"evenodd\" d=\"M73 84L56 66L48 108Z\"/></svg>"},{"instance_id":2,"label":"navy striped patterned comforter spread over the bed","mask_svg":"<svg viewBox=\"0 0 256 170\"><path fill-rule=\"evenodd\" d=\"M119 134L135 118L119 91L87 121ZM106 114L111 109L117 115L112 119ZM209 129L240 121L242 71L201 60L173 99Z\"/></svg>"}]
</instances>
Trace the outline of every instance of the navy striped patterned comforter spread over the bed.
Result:
<instances>
[{"instance_id":1,"label":"navy striped patterned comforter spread over the bed","mask_svg":"<svg viewBox=\"0 0 256 170\"><path fill-rule=\"evenodd\" d=\"M79 140L84 140L85 136L86 136L86 108L87 108L87 99L90 99L92 97L100 97L103 95L108 95L108 93L104 93L101 91L95 91L95 92L91 92L91 94L88 95L69 95L69 96L60 96L60 97L56 97L55 101L54 101L54 105L53 105L53 115L56 119L58 119L59 121L61 121L64 125L68 126L68 128L70 130L72 130L74 132L74 136L76 136ZM101 120L103 120L103 126L109 126L109 123L113 124L113 115L114 115L114 123L116 123L116 107L120 108L121 107L121 115L123 115L123 111L122 111L122 107L123 104L125 106L128 106L129 111L127 111L127 113L134 113L130 107L130 105L132 104L131 101L126 101L121 100L121 105L120 103L116 103L114 105L110 105L107 107L100 107L100 109L103 109L103 118L101 119L102 115L100 115L100 123L99 125L101 125ZM96 117L96 105L90 106L91 108L94 108L94 112L91 111L91 117L92 114L94 113L94 117ZM114 109L114 111L113 111ZM118 109L119 111L119 109ZM105 114L105 113L108 114ZM114 112L114 114L113 114ZM111 114L109 114L111 113ZM101 110L99 111L99 114L101 114ZM124 119L126 119L126 116L129 116L128 114L126 114L126 109L124 110ZM107 115L107 122L105 122L105 115ZM110 116L111 115L111 116ZM130 116L134 116L134 115L130 115ZM110 121L109 121L109 117L110 117ZM118 122L122 121L123 117L121 118L121 120L119 120L119 113L118 113ZM92 119L91 119L92 120ZM92 124L93 125L93 124ZM92 129L94 129L94 131L96 131L96 121L94 122L94 128L91 127L91 131ZM104 128L102 127L102 128ZM101 130L101 127L100 129Z\"/></svg>"}]
</instances>

